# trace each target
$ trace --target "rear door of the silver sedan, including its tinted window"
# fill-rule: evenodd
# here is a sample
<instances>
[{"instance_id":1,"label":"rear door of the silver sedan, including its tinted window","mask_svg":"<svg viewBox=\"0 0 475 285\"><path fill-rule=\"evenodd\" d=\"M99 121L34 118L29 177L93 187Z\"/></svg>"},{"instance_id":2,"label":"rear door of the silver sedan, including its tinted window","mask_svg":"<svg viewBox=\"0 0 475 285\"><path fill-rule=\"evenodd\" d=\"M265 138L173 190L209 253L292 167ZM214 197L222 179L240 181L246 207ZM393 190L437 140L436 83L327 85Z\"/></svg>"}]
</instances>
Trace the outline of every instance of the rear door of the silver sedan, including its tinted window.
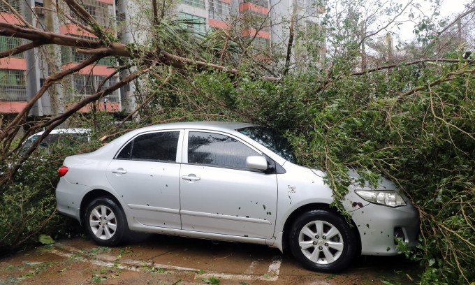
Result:
<instances>
[{"instance_id":1,"label":"rear door of the silver sedan, including its tinted window","mask_svg":"<svg viewBox=\"0 0 475 285\"><path fill-rule=\"evenodd\" d=\"M142 133L127 142L107 168L110 185L140 224L181 227L182 137L180 131Z\"/></svg>"}]
</instances>

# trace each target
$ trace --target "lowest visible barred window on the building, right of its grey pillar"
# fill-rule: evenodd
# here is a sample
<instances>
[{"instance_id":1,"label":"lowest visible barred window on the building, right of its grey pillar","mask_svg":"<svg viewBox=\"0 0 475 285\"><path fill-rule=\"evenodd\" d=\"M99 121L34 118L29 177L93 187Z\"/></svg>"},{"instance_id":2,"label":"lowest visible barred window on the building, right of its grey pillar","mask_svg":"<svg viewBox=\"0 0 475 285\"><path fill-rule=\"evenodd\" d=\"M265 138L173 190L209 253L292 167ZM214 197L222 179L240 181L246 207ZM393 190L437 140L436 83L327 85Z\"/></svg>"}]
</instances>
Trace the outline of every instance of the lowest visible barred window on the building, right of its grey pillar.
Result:
<instances>
[{"instance_id":1,"label":"lowest visible barred window on the building, right of its grey pillar","mask_svg":"<svg viewBox=\"0 0 475 285\"><path fill-rule=\"evenodd\" d=\"M101 82L103 82L106 77L107 76L103 75L73 75L73 96L82 98L83 96L95 94L97 92L98 86L101 85ZM101 90L107 89L108 87L115 85L115 83L117 83L118 81L119 79L117 77L109 78L105 81L104 85L101 87ZM114 92L112 92L112 94L105 96L105 98L108 98L108 102L119 102L119 90L115 90Z\"/></svg>"}]
</instances>

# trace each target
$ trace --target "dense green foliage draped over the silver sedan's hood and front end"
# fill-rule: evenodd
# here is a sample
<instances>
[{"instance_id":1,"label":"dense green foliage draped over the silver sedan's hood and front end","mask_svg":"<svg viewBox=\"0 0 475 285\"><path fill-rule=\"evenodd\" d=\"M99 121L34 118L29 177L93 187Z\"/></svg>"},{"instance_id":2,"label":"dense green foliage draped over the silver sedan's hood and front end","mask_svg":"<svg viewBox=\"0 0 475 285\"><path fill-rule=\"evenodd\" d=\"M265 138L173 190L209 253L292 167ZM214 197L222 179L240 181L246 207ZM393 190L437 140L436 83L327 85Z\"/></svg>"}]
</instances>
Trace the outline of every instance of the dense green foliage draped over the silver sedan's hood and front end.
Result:
<instances>
[{"instance_id":1,"label":"dense green foliage draped over the silver sedan's hood and front end","mask_svg":"<svg viewBox=\"0 0 475 285\"><path fill-rule=\"evenodd\" d=\"M387 89L404 92L397 82L402 69L386 78L342 76L335 88L319 94L324 103L305 106L302 122L312 122L307 130L296 124L299 131L289 136L300 163L326 171L335 198L346 193L347 167L373 187L379 175L393 180L421 213L421 247L401 250L427 261L422 265L428 284L466 283L475 278L475 78L459 73L398 98ZM440 71L419 70L429 80L441 78Z\"/></svg>"}]
</instances>

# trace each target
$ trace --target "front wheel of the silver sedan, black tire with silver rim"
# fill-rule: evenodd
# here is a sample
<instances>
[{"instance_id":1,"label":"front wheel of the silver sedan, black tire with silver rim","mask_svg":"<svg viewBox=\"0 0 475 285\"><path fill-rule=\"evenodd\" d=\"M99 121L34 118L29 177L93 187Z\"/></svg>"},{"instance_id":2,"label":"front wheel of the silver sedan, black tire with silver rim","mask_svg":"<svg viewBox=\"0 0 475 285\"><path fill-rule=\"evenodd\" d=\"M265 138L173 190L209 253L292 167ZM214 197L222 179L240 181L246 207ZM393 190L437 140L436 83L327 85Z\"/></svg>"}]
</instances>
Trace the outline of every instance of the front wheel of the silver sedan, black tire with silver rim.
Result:
<instances>
[{"instance_id":1,"label":"front wheel of the silver sedan, black tire with silver rim","mask_svg":"<svg viewBox=\"0 0 475 285\"><path fill-rule=\"evenodd\" d=\"M300 215L289 235L293 256L310 270L338 272L356 254L357 239L349 224L334 212L312 210Z\"/></svg>"}]
</instances>

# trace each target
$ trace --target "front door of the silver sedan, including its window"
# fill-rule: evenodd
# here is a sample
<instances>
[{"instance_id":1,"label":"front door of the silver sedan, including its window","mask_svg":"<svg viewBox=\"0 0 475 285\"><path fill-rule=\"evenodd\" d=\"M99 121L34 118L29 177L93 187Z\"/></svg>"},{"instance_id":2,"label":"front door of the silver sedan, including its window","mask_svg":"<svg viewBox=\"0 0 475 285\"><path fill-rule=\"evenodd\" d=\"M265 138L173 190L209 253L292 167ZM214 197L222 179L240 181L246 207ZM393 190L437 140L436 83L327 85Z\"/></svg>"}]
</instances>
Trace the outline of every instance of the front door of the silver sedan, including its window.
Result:
<instances>
[{"instance_id":1,"label":"front door of the silver sedan, including its window","mask_svg":"<svg viewBox=\"0 0 475 285\"><path fill-rule=\"evenodd\" d=\"M182 228L272 238L277 214L275 173L245 167L261 155L226 133L185 131L180 170Z\"/></svg>"}]
</instances>

